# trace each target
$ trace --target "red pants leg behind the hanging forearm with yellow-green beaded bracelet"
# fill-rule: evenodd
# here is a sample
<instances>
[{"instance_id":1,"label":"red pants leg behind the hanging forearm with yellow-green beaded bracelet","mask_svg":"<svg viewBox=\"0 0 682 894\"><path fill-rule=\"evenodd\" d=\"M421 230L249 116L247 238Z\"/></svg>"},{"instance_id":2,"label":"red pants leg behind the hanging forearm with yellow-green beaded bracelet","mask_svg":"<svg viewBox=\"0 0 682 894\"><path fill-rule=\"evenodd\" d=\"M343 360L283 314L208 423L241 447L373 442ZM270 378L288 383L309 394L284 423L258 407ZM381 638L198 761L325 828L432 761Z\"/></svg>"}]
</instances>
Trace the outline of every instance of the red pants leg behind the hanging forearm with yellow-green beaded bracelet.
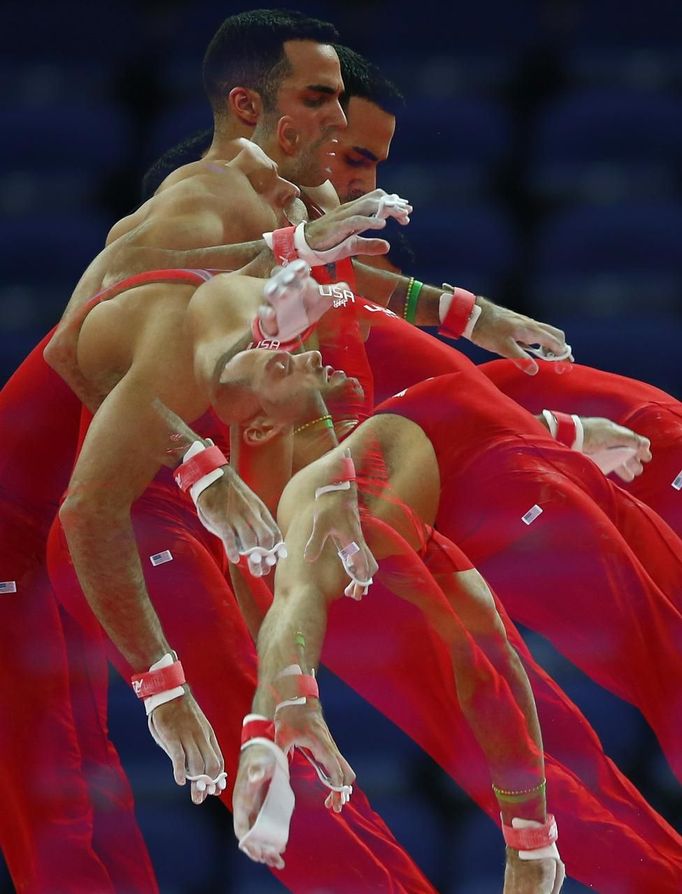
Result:
<instances>
[{"instance_id":1,"label":"red pants leg behind the hanging forearm with yellow-green beaded bracelet","mask_svg":"<svg viewBox=\"0 0 682 894\"><path fill-rule=\"evenodd\" d=\"M425 579L424 566L413 559L415 601L424 602L432 598L433 580ZM488 768L459 705L448 649L419 607L386 589L381 565L361 603L342 599L332 607L324 663L499 822ZM682 872L680 837L605 757L585 718L537 666L503 611L502 616L536 698L548 809L558 819L569 874L602 894L674 894ZM352 753L346 757L352 763Z\"/></svg>"}]
</instances>

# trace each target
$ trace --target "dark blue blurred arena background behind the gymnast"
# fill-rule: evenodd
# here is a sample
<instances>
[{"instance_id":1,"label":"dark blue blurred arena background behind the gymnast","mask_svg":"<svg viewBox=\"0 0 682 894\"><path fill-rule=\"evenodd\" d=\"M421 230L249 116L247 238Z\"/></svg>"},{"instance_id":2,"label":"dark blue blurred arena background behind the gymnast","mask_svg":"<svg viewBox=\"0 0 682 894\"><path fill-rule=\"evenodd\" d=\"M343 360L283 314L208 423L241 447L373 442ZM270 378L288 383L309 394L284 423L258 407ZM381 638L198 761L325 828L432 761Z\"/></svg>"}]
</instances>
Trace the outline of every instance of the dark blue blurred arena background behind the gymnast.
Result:
<instances>
[{"instance_id":1,"label":"dark blue blurred arena background behind the gymnast","mask_svg":"<svg viewBox=\"0 0 682 894\"><path fill-rule=\"evenodd\" d=\"M682 397L679 0L270 5L335 22L405 94L379 185L415 206L407 236L421 279L562 326L580 362ZM210 126L203 51L222 19L248 6L5 4L0 381L59 319L108 227L138 204L148 165ZM371 648L371 632L363 636ZM637 712L539 637L529 641L611 756L679 827L679 788ZM438 890L498 891L503 854L489 820L331 675L322 689L342 750ZM282 891L237 851L224 810L192 807L176 789L118 679L111 700L112 736L164 894ZM0 892L10 891L0 863Z\"/></svg>"}]
</instances>

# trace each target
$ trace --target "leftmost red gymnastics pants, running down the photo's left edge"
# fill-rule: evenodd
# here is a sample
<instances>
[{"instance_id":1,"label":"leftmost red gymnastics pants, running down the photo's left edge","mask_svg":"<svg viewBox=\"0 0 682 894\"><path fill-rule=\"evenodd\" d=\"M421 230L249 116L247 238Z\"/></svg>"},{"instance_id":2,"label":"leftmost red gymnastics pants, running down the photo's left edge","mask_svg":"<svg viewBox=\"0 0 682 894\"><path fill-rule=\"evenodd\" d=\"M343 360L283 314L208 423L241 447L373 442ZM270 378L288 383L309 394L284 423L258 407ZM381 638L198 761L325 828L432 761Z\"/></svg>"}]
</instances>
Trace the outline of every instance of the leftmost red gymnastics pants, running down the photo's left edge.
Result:
<instances>
[{"instance_id":1,"label":"leftmost red gymnastics pants, running down the photo's left edge","mask_svg":"<svg viewBox=\"0 0 682 894\"><path fill-rule=\"evenodd\" d=\"M157 886L130 788L74 673L77 631L47 579L47 531L80 416L43 361L48 339L0 393L0 581L16 588L0 595L0 847L22 894L149 894Z\"/></svg>"}]
</instances>

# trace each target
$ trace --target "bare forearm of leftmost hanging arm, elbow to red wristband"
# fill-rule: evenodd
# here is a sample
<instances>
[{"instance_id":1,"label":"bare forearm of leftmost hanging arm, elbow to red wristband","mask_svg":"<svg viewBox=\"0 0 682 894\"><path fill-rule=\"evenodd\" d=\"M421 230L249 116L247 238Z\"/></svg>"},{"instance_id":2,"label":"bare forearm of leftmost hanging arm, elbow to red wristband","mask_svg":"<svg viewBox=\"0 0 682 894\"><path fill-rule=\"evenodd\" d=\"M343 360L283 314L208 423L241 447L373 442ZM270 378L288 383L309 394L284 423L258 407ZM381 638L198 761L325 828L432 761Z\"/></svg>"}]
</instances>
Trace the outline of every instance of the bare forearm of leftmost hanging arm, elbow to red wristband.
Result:
<instances>
[{"instance_id":1,"label":"bare forearm of leftmost hanging arm, elbow to red wristband","mask_svg":"<svg viewBox=\"0 0 682 894\"><path fill-rule=\"evenodd\" d=\"M60 519L94 614L131 667L146 670L170 645L147 593L129 513L69 497Z\"/></svg>"}]
</instances>

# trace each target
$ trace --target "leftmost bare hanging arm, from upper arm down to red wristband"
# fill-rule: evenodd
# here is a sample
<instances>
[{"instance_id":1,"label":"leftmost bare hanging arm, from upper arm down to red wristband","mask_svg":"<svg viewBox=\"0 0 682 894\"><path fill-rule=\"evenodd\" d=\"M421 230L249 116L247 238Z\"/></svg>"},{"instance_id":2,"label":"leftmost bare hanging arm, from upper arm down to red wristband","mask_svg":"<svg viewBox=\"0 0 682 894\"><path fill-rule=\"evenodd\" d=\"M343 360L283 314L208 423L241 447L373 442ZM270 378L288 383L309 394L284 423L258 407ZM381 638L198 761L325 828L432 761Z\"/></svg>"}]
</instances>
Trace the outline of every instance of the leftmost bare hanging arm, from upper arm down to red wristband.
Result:
<instances>
[{"instance_id":1,"label":"leftmost bare hanging arm, from upper arm down to red wristband","mask_svg":"<svg viewBox=\"0 0 682 894\"><path fill-rule=\"evenodd\" d=\"M60 510L88 602L139 671L170 646L147 593L130 509L156 474L167 444L166 425L146 389L127 376L95 414Z\"/></svg>"}]
</instances>

